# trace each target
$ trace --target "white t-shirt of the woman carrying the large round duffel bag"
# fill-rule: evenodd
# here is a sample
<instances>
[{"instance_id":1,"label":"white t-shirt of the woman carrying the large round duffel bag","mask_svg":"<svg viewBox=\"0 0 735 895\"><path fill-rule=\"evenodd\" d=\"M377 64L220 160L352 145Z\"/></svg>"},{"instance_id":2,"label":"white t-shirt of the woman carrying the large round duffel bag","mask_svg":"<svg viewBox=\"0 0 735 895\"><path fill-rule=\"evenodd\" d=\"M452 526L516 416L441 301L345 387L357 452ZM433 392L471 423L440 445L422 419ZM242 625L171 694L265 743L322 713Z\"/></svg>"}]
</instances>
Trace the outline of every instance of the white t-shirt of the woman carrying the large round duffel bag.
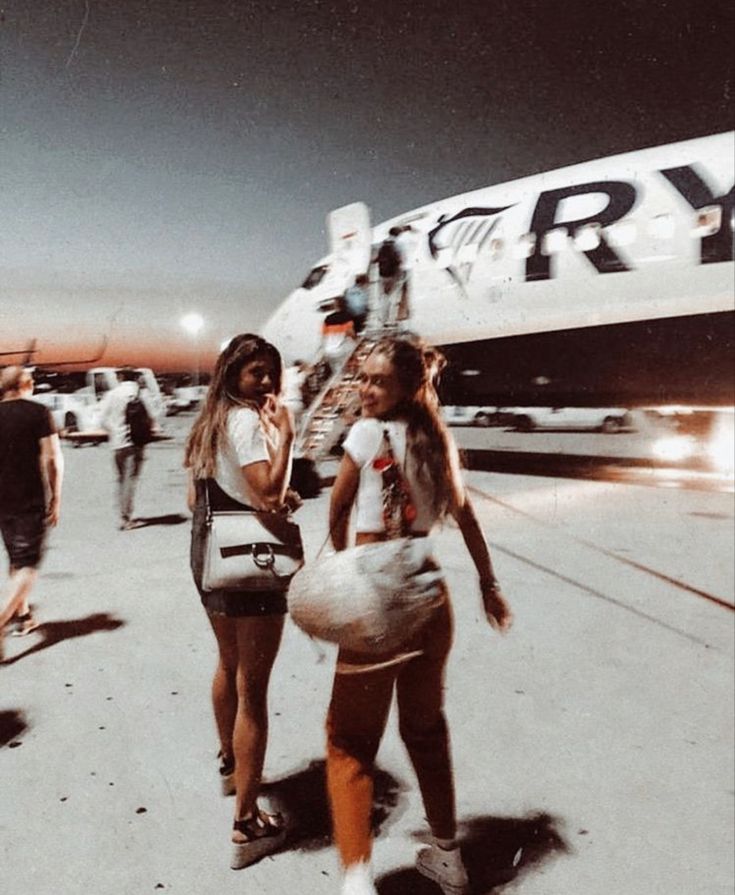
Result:
<instances>
[{"instance_id":1,"label":"white t-shirt of the woman carrying the large round duffel bag","mask_svg":"<svg viewBox=\"0 0 735 895\"><path fill-rule=\"evenodd\" d=\"M411 526L413 531L430 531L437 520L437 513L431 505L433 495L427 494L426 486L412 475L413 464L406 463L406 428L407 424L399 420L385 421L374 417L358 420L342 445L360 469L355 521L355 530L358 532L385 531L382 476L380 471L373 467L373 461L381 455L383 432L386 430L391 449L401 465L416 508L416 519Z\"/></svg>"}]
</instances>

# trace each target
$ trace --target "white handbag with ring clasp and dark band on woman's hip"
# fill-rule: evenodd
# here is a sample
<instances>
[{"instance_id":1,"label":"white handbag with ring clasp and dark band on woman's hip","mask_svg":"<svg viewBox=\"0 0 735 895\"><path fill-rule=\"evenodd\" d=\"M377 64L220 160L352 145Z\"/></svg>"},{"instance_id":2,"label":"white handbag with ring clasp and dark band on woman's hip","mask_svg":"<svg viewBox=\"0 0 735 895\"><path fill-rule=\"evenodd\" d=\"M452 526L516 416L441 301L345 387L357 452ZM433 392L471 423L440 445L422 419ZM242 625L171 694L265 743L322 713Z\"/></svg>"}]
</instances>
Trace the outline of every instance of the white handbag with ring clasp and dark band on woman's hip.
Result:
<instances>
[{"instance_id":1,"label":"white handbag with ring clasp and dark band on woman's hip","mask_svg":"<svg viewBox=\"0 0 735 895\"><path fill-rule=\"evenodd\" d=\"M285 590L304 563L299 526L277 511L212 510L205 493L202 590Z\"/></svg>"}]
</instances>

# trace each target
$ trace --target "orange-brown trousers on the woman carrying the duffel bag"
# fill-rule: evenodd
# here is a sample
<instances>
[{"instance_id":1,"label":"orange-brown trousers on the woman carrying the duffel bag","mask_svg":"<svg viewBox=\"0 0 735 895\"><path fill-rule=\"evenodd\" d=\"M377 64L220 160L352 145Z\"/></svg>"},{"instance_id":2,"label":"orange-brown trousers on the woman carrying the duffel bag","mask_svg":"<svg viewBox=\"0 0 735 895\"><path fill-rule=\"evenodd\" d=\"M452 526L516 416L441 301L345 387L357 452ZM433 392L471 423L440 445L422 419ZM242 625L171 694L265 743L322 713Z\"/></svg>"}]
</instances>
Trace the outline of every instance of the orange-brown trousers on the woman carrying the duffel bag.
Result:
<instances>
[{"instance_id":1,"label":"orange-brown trousers on the woman carrying the duffel bag","mask_svg":"<svg viewBox=\"0 0 735 895\"><path fill-rule=\"evenodd\" d=\"M421 655L397 665L336 674L327 716L327 787L334 838L345 866L367 861L372 846L373 767L395 685L401 738L418 777L431 831L456 832L454 779L444 716L444 673L452 642L447 598L415 635Z\"/></svg>"}]
</instances>

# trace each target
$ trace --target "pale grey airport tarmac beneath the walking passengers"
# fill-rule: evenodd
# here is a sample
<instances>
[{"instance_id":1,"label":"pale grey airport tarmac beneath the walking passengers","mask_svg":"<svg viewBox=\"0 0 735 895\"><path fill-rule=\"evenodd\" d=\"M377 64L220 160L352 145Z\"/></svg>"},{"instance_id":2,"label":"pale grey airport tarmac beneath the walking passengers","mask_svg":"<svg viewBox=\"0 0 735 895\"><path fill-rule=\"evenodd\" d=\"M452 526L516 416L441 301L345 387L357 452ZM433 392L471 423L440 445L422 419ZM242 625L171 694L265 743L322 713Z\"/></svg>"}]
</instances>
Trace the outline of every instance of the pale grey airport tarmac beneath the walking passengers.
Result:
<instances>
[{"instance_id":1,"label":"pale grey airport tarmac beneath the walking passengers","mask_svg":"<svg viewBox=\"0 0 735 895\"><path fill-rule=\"evenodd\" d=\"M108 448L64 447L62 521L34 593L43 622L0 665L0 866L13 895L339 892L324 795L334 650L287 624L271 685L266 794L286 849L229 869L209 687L215 644L188 568L182 445L148 449L116 528ZM540 436L537 436L540 437ZM730 895L731 491L467 473L515 612L481 613L456 528L436 537L454 595L447 714L472 891ZM329 493L299 510L308 557ZM392 716L378 756L381 895L439 895Z\"/></svg>"}]
</instances>

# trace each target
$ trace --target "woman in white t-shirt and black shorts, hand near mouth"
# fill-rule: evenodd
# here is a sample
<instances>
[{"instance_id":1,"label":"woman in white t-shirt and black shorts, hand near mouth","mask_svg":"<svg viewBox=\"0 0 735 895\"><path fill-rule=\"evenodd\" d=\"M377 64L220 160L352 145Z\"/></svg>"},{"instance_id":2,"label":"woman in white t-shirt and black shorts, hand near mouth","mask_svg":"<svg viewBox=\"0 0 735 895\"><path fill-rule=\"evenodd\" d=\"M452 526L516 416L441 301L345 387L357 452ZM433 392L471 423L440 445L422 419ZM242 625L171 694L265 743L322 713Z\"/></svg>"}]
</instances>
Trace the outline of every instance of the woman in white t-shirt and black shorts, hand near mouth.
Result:
<instances>
[{"instance_id":1,"label":"woman in white t-shirt and black shorts, hand near mouth","mask_svg":"<svg viewBox=\"0 0 735 895\"><path fill-rule=\"evenodd\" d=\"M285 509L294 438L279 398L278 351L259 336L235 336L220 354L206 401L192 427L184 465L194 511L191 568L217 638L212 685L220 738L223 792L235 792L233 869L276 851L283 819L258 807L268 735L267 692L286 613L285 591L203 591L206 501L212 509L243 505Z\"/></svg>"}]
</instances>

